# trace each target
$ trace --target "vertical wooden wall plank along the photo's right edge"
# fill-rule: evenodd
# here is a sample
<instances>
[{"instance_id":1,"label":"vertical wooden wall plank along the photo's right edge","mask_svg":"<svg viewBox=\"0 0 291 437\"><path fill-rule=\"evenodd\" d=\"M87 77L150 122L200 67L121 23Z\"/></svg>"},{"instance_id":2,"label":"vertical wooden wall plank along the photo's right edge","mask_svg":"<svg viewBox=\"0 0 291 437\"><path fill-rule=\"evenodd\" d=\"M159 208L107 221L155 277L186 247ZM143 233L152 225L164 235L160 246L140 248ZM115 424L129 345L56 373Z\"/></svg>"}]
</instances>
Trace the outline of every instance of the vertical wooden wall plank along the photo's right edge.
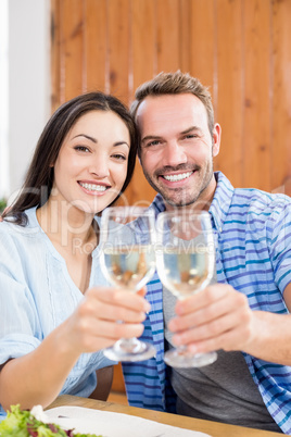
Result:
<instances>
[{"instance_id":1,"label":"vertical wooden wall plank along the photo's right edge","mask_svg":"<svg viewBox=\"0 0 291 437\"><path fill-rule=\"evenodd\" d=\"M291 1L273 2L274 105L271 189L291 196Z\"/></svg>"}]
</instances>

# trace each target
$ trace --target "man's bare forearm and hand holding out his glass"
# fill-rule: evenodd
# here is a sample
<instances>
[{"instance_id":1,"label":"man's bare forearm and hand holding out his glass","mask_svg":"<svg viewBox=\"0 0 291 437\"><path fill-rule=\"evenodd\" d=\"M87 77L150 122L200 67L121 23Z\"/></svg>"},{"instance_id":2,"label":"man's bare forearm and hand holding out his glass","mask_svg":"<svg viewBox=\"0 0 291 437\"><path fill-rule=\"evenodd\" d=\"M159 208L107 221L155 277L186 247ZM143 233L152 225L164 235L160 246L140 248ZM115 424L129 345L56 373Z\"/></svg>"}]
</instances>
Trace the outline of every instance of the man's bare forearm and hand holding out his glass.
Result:
<instances>
[{"instance_id":1,"label":"man's bare forearm and hand holding out his glass","mask_svg":"<svg viewBox=\"0 0 291 437\"><path fill-rule=\"evenodd\" d=\"M291 309L291 284L284 289ZM265 361L291 365L291 314L252 311L248 298L230 285L215 284L178 301L169 322L175 345L193 352L241 350Z\"/></svg>"}]
</instances>

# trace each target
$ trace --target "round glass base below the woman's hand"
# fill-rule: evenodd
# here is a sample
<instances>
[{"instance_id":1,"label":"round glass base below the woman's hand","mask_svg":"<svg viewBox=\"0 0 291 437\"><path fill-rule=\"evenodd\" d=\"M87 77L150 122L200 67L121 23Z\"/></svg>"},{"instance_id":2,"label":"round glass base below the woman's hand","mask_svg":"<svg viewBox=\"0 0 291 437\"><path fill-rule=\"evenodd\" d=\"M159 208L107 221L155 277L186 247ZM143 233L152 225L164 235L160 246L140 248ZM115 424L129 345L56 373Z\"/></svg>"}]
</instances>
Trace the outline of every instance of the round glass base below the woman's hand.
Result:
<instances>
[{"instance_id":1,"label":"round glass base below the woman's hand","mask_svg":"<svg viewBox=\"0 0 291 437\"><path fill-rule=\"evenodd\" d=\"M140 341L137 338L121 339L111 348L103 350L103 354L113 361L144 361L153 358L156 350L153 345Z\"/></svg>"}]
</instances>

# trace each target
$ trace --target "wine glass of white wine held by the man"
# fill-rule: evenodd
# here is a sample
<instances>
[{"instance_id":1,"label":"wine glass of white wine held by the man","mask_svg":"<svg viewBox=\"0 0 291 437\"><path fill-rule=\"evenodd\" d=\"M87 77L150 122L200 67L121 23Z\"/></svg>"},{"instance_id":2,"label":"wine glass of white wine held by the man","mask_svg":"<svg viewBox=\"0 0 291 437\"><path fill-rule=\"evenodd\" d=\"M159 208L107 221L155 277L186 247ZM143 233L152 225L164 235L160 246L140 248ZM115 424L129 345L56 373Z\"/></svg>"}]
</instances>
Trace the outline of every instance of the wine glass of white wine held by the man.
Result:
<instances>
[{"instance_id":1,"label":"wine glass of white wine held by the man","mask_svg":"<svg viewBox=\"0 0 291 437\"><path fill-rule=\"evenodd\" d=\"M156 269L162 284L178 299L201 292L215 269L215 247L210 214L205 211L170 211L156 221ZM173 348L164 361L174 367L201 367L213 363L216 352L191 353Z\"/></svg>"}]
</instances>

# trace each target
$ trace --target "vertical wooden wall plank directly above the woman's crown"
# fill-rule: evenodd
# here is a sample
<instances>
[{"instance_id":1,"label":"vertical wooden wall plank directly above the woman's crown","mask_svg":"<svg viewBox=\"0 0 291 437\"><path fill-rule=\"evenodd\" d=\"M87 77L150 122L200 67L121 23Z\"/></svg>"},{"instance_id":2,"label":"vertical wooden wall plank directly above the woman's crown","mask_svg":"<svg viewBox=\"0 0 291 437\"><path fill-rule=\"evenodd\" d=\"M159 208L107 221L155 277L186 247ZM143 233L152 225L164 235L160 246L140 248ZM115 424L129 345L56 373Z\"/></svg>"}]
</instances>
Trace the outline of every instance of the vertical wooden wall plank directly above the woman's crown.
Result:
<instances>
[{"instance_id":1,"label":"vertical wooden wall plank directly above the woman's crown","mask_svg":"<svg viewBox=\"0 0 291 437\"><path fill-rule=\"evenodd\" d=\"M106 0L85 3L85 66L87 90L109 89Z\"/></svg>"}]
</instances>

